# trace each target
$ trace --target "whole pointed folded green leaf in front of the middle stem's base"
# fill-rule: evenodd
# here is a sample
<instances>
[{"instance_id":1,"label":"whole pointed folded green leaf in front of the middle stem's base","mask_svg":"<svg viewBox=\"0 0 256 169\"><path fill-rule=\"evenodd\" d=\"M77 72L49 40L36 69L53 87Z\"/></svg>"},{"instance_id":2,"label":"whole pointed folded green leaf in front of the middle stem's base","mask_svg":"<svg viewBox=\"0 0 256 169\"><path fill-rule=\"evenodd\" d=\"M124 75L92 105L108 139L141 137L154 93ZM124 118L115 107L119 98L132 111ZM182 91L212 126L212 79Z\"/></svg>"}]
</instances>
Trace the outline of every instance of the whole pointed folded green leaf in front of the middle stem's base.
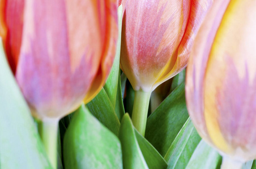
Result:
<instances>
[{"instance_id":1,"label":"whole pointed folded green leaf in front of the middle stem's base","mask_svg":"<svg viewBox=\"0 0 256 169\"><path fill-rule=\"evenodd\" d=\"M121 121L119 137L123 150L124 168L167 168L164 158L136 131L128 113Z\"/></svg>"}]
</instances>

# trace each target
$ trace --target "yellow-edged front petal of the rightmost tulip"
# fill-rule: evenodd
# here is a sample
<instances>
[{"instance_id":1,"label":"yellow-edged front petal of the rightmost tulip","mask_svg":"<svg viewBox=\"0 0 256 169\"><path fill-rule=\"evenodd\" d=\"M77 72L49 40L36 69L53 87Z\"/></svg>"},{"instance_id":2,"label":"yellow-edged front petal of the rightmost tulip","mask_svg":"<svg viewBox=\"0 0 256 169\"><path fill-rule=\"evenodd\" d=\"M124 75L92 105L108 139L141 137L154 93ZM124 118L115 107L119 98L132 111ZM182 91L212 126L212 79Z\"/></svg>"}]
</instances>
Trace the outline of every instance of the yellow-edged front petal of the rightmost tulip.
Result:
<instances>
[{"instance_id":1,"label":"yellow-edged front petal of the rightmost tulip","mask_svg":"<svg viewBox=\"0 0 256 169\"><path fill-rule=\"evenodd\" d=\"M205 100L204 112L212 140L223 152L245 160L256 155L246 154L249 149L256 150L251 144L256 141L253 135L256 131L250 130L256 124L255 7L255 1L229 2L212 44L204 89L204 97L212 98ZM222 134L232 152L219 145L212 133ZM239 153L237 149L241 149Z\"/></svg>"}]
</instances>

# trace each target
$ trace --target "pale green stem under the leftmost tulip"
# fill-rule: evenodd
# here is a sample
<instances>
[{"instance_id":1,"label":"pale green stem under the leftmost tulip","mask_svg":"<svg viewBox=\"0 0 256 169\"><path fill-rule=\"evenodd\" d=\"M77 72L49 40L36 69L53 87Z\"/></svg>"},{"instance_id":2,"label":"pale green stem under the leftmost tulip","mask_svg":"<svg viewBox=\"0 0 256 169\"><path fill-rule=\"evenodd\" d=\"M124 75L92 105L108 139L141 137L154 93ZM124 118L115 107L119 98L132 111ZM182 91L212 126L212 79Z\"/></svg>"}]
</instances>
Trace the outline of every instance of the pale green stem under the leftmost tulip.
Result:
<instances>
[{"instance_id":1,"label":"pale green stem under the leftmost tulip","mask_svg":"<svg viewBox=\"0 0 256 169\"><path fill-rule=\"evenodd\" d=\"M59 119L47 118L43 119L39 126L42 143L53 169L57 168L58 122Z\"/></svg>"}]
</instances>

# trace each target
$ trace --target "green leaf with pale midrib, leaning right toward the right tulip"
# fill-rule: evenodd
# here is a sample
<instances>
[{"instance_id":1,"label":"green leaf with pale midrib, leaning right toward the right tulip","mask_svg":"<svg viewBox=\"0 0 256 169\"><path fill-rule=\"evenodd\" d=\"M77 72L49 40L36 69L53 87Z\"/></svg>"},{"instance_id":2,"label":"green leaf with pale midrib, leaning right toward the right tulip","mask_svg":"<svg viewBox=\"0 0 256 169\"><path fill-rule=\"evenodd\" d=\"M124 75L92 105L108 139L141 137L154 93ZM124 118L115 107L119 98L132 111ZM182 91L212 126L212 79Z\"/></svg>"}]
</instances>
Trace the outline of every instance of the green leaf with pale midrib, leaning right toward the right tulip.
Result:
<instances>
[{"instance_id":1,"label":"green leaf with pale midrib, leaning right toward the right tulip","mask_svg":"<svg viewBox=\"0 0 256 169\"><path fill-rule=\"evenodd\" d=\"M193 123L187 119L165 154L164 159L168 163L168 168L185 168L200 140L201 137L197 134Z\"/></svg>"}]
</instances>

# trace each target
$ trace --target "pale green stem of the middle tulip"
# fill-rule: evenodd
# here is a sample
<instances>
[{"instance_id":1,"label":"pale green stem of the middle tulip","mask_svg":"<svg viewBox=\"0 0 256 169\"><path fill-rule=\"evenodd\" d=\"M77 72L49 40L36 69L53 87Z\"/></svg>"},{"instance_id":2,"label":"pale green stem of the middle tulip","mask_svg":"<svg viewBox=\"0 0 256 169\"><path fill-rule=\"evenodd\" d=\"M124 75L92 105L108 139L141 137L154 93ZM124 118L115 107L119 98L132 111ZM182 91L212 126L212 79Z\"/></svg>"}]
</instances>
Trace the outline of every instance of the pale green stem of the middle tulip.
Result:
<instances>
[{"instance_id":1,"label":"pale green stem of the middle tulip","mask_svg":"<svg viewBox=\"0 0 256 169\"><path fill-rule=\"evenodd\" d=\"M139 133L144 136L147 123L148 106L150 104L151 92L144 92L141 90L135 91L133 114L131 121Z\"/></svg>"}]
</instances>

